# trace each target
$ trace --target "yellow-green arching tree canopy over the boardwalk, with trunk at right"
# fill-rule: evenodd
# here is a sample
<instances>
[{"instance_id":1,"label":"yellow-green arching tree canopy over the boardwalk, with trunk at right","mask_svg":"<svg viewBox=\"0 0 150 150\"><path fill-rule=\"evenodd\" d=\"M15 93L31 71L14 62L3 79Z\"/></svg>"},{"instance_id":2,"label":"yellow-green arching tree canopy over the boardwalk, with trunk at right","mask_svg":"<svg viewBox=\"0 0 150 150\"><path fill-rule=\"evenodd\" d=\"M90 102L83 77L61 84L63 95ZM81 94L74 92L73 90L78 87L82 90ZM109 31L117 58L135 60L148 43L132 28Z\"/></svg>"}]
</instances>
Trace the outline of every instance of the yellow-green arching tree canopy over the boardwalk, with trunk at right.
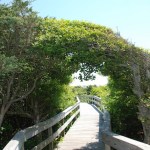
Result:
<instances>
[{"instance_id":1,"label":"yellow-green arching tree canopy over the boardwalk, with trunk at right","mask_svg":"<svg viewBox=\"0 0 150 150\"><path fill-rule=\"evenodd\" d=\"M80 76L81 80L87 80L91 73L99 71L111 78L116 91L122 89L130 93L126 93L126 98L137 98L145 142L149 143L149 52L100 25L44 19L43 28L38 44L51 56L67 60L72 71L80 70L84 74Z\"/></svg>"}]
</instances>

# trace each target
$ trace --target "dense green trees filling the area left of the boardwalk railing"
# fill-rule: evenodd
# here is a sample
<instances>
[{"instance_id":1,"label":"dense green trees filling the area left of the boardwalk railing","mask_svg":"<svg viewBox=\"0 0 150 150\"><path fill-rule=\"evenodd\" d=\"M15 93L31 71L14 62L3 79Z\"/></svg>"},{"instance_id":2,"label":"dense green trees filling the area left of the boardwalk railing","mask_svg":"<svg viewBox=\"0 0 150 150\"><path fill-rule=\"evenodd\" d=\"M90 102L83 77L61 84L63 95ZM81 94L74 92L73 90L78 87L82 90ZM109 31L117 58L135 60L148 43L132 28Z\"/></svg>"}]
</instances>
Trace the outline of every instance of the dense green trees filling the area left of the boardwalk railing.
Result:
<instances>
[{"instance_id":1,"label":"dense green trees filling the area left of the boardwalk railing","mask_svg":"<svg viewBox=\"0 0 150 150\"><path fill-rule=\"evenodd\" d=\"M40 45L41 18L29 2L0 5L0 147L20 129L75 102L67 58ZM55 51L55 50L53 50ZM1 149L0 148L0 149Z\"/></svg>"}]
</instances>

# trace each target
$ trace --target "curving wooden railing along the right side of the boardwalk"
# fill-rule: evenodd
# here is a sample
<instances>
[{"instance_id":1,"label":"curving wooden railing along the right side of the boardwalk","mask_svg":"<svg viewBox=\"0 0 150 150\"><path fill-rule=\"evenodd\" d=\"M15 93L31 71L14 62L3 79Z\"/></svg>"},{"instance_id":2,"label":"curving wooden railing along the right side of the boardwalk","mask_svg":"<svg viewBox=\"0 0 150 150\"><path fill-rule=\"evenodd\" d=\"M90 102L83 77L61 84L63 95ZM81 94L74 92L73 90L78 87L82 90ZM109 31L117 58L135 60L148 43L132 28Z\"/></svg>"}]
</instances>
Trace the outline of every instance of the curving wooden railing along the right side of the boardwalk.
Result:
<instances>
[{"instance_id":1,"label":"curving wooden railing along the right side of the boardwalk","mask_svg":"<svg viewBox=\"0 0 150 150\"><path fill-rule=\"evenodd\" d=\"M103 115L102 141L105 150L111 147L117 150L150 150L150 145L115 134L111 132L111 122L109 112L102 106L101 99L96 96L88 96L88 102L98 107Z\"/></svg>"}]
</instances>

